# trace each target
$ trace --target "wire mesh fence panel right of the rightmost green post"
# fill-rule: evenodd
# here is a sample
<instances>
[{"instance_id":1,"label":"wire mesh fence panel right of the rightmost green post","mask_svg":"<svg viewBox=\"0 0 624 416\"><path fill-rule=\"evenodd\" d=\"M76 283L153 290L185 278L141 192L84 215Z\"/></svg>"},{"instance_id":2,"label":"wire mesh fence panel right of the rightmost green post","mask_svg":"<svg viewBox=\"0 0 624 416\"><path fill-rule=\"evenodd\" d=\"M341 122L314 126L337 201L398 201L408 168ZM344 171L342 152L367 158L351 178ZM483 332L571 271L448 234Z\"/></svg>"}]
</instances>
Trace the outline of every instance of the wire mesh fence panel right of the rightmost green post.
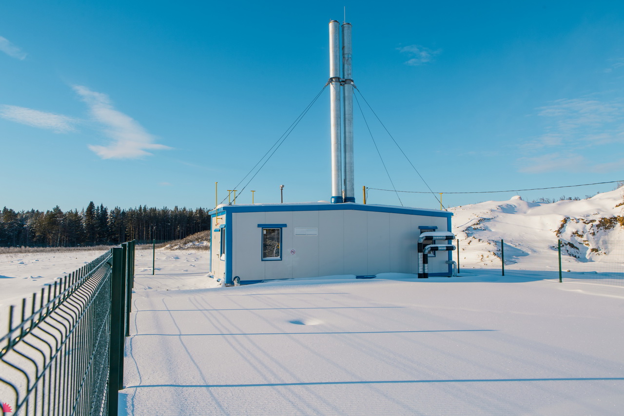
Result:
<instances>
[{"instance_id":1,"label":"wire mesh fence panel right of the rightmost green post","mask_svg":"<svg viewBox=\"0 0 624 416\"><path fill-rule=\"evenodd\" d=\"M562 279L624 286L624 242L561 241Z\"/></svg>"}]
</instances>

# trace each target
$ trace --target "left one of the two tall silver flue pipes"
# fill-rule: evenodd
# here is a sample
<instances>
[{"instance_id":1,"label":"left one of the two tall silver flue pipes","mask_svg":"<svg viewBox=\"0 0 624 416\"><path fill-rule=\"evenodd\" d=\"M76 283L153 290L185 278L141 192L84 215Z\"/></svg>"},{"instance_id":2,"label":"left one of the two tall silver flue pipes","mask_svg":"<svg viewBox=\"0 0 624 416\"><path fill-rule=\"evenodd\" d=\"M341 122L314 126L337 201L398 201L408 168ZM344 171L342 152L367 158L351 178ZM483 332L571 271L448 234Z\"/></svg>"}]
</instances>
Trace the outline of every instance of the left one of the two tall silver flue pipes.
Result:
<instances>
[{"instance_id":1,"label":"left one of the two tall silver flue pipes","mask_svg":"<svg viewBox=\"0 0 624 416\"><path fill-rule=\"evenodd\" d=\"M331 125L331 203L343 202L342 149L340 142L340 24L329 22L329 117Z\"/></svg>"}]
</instances>

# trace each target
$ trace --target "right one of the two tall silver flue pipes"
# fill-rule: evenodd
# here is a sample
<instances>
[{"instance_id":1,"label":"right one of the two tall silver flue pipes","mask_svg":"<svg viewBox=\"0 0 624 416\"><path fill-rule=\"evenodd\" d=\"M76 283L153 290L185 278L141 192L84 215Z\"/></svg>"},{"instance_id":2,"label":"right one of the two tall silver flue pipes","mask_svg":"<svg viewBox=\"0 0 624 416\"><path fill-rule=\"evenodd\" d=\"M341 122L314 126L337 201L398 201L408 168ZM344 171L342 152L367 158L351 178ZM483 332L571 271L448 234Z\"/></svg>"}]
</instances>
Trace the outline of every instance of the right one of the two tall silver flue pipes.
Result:
<instances>
[{"instance_id":1,"label":"right one of the two tall silver flue pipes","mask_svg":"<svg viewBox=\"0 0 624 416\"><path fill-rule=\"evenodd\" d=\"M343 82L344 202L355 202L353 167L353 79L351 79L351 23L343 23Z\"/></svg>"}]
</instances>

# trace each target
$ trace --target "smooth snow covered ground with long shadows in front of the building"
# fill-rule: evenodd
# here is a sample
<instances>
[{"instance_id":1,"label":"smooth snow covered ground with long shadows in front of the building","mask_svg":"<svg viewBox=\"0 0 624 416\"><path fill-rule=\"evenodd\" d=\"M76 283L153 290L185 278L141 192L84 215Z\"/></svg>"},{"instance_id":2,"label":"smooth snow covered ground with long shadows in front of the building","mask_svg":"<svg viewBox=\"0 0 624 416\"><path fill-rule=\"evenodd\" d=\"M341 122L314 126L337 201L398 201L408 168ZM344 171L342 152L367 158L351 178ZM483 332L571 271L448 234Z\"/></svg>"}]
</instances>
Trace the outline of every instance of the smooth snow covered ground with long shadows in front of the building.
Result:
<instances>
[{"instance_id":1,"label":"smooth snow covered ground with long shadows in front of the building","mask_svg":"<svg viewBox=\"0 0 624 416\"><path fill-rule=\"evenodd\" d=\"M619 415L624 288L137 276L129 415Z\"/></svg>"}]
</instances>

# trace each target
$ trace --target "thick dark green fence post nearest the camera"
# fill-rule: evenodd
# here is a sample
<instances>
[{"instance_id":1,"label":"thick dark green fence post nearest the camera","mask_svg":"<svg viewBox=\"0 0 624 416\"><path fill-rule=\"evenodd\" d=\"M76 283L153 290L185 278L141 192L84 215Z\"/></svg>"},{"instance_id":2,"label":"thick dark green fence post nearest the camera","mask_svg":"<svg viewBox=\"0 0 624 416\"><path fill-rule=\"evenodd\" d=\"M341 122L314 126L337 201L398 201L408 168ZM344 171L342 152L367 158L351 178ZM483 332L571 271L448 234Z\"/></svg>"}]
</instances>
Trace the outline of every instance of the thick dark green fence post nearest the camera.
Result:
<instances>
[{"instance_id":1,"label":"thick dark green fence post nearest the camera","mask_svg":"<svg viewBox=\"0 0 624 416\"><path fill-rule=\"evenodd\" d=\"M109 349L109 386L108 416L117 416L119 406L119 390L124 384L124 250L121 247L112 249L112 274L110 275L110 349Z\"/></svg>"}]
</instances>

